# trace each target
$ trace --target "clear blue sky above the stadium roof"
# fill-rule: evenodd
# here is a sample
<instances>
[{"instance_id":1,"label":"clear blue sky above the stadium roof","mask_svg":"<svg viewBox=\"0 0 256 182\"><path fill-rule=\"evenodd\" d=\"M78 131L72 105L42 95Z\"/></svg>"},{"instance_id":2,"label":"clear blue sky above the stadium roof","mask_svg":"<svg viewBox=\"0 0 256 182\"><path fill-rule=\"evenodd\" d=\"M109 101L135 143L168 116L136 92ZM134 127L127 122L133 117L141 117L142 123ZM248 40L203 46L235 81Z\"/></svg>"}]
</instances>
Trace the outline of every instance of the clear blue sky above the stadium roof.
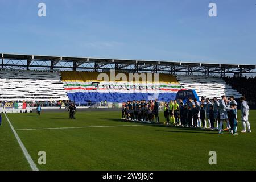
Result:
<instances>
[{"instance_id":1,"label":"clear blue sky above the stadium roof","mask_svg":"<svg viewBox=\"0 0 256 182\"><path fill-rule=\"evenodd\" d=\"M46 3L46 17L38 3ZM208 16L209 3L217 17ZM0 52L256 63L256 0L0 0Z\"/></svg>"}]
</instances>

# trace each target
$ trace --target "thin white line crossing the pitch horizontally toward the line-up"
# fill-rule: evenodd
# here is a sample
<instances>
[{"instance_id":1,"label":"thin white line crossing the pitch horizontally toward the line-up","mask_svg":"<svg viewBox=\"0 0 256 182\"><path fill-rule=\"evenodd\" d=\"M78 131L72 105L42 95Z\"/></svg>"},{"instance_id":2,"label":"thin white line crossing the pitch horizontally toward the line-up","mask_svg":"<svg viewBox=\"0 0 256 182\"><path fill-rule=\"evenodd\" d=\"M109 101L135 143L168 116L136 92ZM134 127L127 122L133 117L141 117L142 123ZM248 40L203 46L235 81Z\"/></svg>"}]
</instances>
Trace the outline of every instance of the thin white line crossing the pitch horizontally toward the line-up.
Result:
<instances>
[{"instance_id":1,"label":"thin white line crossing the pitch horizontally toward the line-up","mask_svg":"<svg viewBox=\"0 0 256 182\"><path fill-rule=\"evenodd\" d=\"M97 127L127 127L127 126L152 126L155 124L147 125L112 125L112 126L79 126L79 127L48 127L42 129L16 129L16 131L26 131L26 130L62 130L62 129L86 129L86 128L97 128Z\"/></svg>"}]
</instances>

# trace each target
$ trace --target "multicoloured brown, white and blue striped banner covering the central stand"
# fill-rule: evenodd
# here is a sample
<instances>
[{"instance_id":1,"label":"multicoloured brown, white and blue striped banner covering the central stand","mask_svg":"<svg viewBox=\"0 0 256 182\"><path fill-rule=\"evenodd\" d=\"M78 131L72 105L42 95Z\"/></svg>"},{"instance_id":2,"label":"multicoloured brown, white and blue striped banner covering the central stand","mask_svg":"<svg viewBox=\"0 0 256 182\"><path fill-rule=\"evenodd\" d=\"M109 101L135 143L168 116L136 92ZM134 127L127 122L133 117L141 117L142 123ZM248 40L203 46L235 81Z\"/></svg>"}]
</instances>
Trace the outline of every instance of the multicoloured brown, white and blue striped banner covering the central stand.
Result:
<instances>
[{"instance_id":1,"label":"multicoloured brown, white and blue striped banner covering the central stand","mask_svg":"<svg viewBox=\"0 0 256 182\"><path fill-rule=\"evenodd\" d=\"M158 98L161 101L169 101L174 100L176 93L183 89L174 76L163 73L159 74L159 82L134 82L133 84L127 80L101 81L97 79L98 74L98 72L61 72L69 100L86 103L104 100L123 102ZM105 74L110 78L110 72ZM127 73L122 74L129 78ZM150 86L146 88L146 84ZM155 94L158 96L156 97Z\"/></svg>"}]
</instances>

